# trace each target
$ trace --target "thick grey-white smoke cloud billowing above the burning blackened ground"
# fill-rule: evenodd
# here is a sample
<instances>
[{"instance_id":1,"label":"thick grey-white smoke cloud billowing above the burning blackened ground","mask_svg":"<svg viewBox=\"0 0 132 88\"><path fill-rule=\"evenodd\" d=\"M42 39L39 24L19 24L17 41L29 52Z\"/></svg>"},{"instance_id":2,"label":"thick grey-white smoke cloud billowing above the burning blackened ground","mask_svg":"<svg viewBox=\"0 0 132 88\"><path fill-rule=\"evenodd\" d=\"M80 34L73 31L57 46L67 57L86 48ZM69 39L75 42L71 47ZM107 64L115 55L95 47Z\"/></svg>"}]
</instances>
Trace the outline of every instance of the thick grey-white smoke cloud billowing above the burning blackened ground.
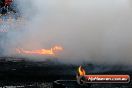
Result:
<instances>
[{"instance_id":1,"label":"thick grey-white smoke cloud billowing above the burning blackened ground","mask_svg":"<svg viewBox=\"0 0 132 88\"><path fill-rule=\"evenodd\" d=\"M28 22L9 40L15 42L13 47L25 49L59 44L64 51L57 58L64 62L132 63L131 4L131 0L18 0Z\"/></svg>"}]
</instances>

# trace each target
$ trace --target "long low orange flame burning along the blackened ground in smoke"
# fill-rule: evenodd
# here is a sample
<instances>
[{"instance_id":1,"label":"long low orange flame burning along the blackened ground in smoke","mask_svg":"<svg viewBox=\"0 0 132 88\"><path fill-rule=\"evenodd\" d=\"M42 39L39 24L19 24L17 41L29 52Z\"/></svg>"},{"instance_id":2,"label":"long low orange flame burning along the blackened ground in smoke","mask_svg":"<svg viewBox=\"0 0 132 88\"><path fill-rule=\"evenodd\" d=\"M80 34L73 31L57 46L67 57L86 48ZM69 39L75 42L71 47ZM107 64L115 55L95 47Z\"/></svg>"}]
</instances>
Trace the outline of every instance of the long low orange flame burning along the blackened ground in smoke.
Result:
<instances>
[{"instance_id":1,"label":"long low orange flame burning along the blackened ground in smoke","mask_svg":"<svg viewBox=\"0 0 132 88\"><path fill-rule=\"evenodd\" d=\"M20 54L37 54L37 55L55 55L56 52L62 51L63 48L61 46L54 46L51 49L40 49L40 50L24 50L24 49L16 49L16 51Z\"/></svg>"}]
</instances>

